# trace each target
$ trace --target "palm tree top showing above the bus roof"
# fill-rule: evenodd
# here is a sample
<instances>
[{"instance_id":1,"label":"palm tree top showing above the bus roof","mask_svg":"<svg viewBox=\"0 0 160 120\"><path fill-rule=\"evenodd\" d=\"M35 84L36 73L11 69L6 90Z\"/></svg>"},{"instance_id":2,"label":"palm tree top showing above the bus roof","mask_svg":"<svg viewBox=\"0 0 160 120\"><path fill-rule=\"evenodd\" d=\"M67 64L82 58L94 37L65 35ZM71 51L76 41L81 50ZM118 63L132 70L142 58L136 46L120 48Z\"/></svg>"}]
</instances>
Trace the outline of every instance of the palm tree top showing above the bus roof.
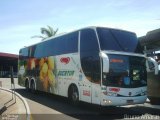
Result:
<instances>
[{"instance_id":1,"label":"palm tree top showing above the bus roof","mask_svg":"<svg viewBox=\"0 0 160 120\"><path fill-rule=\"evenodd\" d=\"M36 35L36 36L32 36L31 38L42 38L42 41L43 41L46 38L49 38L51 36L55 36L58 32L58 28L56 30L53 30L53 28L50 27L49 25L47 26L47 28L42 27L40 30L41 30L41 34L43 34L43 36Z\"/></svg>"}]
</instances>

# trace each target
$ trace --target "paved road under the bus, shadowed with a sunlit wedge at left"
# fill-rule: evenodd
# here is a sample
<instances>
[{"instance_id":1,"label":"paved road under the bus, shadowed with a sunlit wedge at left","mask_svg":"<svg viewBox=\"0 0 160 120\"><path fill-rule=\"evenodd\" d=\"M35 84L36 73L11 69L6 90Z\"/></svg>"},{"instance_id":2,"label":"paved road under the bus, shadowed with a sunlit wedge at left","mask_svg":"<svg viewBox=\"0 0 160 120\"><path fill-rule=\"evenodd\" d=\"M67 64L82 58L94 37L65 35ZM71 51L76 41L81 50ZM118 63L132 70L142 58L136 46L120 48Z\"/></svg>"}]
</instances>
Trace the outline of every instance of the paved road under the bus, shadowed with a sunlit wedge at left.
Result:
<instances>
[{"instance_id":1,"label":"paved road under the bus, shadowed with a sunlit wedge at left","mask_svg":"<svg viewBox=\"0 0 160 120\"><path fill-rule=\"evenodd\" d=\"M16 85L16 91L26 98L33 120L76 120L76 119L125 119L141 117L141 119L160 119L160 106L150 103L125 107L99 107L80 103L71 105L66 98L38 92L29 93Z\"/></svg>"}]
</instances>

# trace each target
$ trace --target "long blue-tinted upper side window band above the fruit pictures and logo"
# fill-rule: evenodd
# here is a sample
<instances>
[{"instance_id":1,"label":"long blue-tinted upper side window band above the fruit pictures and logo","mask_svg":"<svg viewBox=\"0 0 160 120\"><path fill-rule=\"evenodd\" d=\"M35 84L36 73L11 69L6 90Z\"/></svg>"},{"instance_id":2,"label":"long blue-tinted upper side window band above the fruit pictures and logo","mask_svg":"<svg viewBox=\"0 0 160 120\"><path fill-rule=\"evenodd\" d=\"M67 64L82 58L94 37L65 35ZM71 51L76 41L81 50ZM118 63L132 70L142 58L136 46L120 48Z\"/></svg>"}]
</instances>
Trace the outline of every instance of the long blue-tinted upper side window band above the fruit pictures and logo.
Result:
<instances>
[{"instance_id":1,"label":"long blue-tinted upper side window band above the fruit pictures and logo","mask_svg":"<svg viewBox=\"0 0 160 120\"><path fill-rule=\"evenodd\" d=\"M41 58L78 52L78 32L44 41L29 47L29 56Z\"/></svg>"}]
</instances>

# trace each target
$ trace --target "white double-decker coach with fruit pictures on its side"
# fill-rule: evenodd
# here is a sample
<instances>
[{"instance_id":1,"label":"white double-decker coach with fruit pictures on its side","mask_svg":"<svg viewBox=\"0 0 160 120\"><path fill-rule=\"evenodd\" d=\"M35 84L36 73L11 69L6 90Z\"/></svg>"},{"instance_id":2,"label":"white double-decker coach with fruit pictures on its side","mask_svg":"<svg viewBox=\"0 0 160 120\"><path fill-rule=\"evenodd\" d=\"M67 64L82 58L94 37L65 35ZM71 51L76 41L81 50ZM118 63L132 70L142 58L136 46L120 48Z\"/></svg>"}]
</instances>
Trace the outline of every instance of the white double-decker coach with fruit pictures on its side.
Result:
<instances>
[{"instance_id":1,"label":"white double-decker coach with fruit pictures on its side","mask_svg":"<svg viewBox=\"0 0 160 120\"><path fill-rule=\"evenodd\" d=\"M87 27L20 49L19 84L102 106L146 101L146 58L135 33Z\"/></svg>"}]
</instances>

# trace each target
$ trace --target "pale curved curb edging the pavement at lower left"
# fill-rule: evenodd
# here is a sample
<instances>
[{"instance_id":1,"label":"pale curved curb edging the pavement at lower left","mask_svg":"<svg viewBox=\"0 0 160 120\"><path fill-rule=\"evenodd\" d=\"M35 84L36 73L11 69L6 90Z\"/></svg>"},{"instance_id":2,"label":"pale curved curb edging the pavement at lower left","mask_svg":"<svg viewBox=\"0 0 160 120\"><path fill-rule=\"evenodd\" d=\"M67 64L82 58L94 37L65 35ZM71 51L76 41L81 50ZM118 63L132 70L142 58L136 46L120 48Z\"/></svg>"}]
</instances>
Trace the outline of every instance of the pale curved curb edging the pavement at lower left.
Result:
<instances>
[{"instance_id":1,"label":"pale curved curb edging the pavement at lower left","mask_svg":"<svg viewBox=\"0 0 160 120\"><path fill-rule=\"evenodd\" d=\"M6 88L2 88L2 87L0 87L0 90L4 90L4 91L7 91L7 92L12 92L12 90L9 90L9 89L6 89ZM15 92L15 95L22 100L22 102L23 102L23 104L24 104L24 106L26 108L26 114L27 114L26 120L31 120L30 119L31 118L30 109L29 109L27 101L19 93Z\"/></svg>"}]
</instances>

